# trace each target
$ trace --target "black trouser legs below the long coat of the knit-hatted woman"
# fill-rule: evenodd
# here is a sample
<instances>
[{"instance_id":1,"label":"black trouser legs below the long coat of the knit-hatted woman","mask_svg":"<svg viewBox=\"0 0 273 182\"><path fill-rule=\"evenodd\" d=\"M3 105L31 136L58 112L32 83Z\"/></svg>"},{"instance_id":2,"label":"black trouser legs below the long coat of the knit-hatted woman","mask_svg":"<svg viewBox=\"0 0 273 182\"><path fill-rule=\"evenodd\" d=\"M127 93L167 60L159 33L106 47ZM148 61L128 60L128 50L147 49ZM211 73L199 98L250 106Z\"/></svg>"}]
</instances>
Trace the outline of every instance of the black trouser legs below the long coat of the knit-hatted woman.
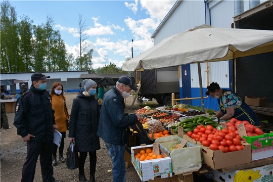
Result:
<instances>
[{"instance_id":1,"label":"black trouser legs below the long coat of the knit-hatted woman","mask_svg":"<svg viewBox=\"0 0 273 182\"><path fill-rule=\"evenodd\" d=\"M89 162L90 162L90 174L94 174L96 172L96 164L97 164L97 152L88 152L89 153ZM80 152L79 155L79 174L84 174L84 164L85 159L87 157L87 152Z\"/></svg>"}]
</instances>

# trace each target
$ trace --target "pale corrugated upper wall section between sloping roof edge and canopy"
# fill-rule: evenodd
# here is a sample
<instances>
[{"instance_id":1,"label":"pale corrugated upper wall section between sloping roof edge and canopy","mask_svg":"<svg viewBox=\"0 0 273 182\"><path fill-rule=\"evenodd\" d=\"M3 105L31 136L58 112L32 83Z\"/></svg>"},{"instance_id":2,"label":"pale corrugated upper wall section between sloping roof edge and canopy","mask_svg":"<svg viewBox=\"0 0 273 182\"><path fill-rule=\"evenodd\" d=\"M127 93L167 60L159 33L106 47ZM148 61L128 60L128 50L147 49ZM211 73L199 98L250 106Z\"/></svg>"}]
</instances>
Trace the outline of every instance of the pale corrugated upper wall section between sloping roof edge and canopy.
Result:
<instances>
[{"instance_id":1,"label":"pale corrugated upper wall section between sloping roof edge and canopy","mask_svg":"<svg viewBox=\"0 0 273 182\"><path fill-rule=\"evenodd\" d=\"M205 24L204 1L182 1L154 37L154 44L164 38Z\"/></svg>"}]
</instances>

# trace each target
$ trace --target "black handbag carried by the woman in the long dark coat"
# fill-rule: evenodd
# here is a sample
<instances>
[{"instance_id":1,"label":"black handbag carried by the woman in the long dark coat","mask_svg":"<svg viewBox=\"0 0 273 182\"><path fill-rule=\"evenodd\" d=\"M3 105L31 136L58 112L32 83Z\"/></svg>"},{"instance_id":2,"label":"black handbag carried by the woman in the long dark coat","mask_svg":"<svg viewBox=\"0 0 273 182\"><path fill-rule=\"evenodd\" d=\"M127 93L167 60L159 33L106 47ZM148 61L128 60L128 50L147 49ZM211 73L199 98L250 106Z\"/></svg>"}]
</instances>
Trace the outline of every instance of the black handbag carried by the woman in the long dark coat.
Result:
<instances>
[{"instance_id":1,"label":"black handbag carried by the woman in the long dark coat","mask_svg":"<svg viewBox=\"0 0 273 182\"><path fill-rule=\"evenodd\" d=\"M79 156L73 141L67 148L66 165L68 169L76 169L79 167Z\"/></svg>"}]
</instances>

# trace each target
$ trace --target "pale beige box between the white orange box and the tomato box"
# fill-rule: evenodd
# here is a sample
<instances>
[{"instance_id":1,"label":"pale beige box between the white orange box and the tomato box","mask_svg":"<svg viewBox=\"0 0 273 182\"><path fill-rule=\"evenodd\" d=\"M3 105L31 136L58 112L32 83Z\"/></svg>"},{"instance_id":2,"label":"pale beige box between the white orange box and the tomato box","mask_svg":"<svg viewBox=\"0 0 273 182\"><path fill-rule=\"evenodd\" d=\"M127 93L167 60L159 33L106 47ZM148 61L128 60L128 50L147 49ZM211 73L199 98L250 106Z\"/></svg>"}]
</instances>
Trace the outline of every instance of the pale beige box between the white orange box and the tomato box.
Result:
<instances>
[{"instance_id":1,"label":"pale beige box between the white orange box and the tomato box","mask_svg":"<svg viewBox=\"0 0 273 182\"><path fill-rule=\"evenodd\" d=\"M178 135L171 135L156 139L162 154L171 158L172 172L177 175L185 172L198 171L202 167L201 148L190 142L186 143L187 148L173 149L184 139Z\"/></svg>"}]
</instances>

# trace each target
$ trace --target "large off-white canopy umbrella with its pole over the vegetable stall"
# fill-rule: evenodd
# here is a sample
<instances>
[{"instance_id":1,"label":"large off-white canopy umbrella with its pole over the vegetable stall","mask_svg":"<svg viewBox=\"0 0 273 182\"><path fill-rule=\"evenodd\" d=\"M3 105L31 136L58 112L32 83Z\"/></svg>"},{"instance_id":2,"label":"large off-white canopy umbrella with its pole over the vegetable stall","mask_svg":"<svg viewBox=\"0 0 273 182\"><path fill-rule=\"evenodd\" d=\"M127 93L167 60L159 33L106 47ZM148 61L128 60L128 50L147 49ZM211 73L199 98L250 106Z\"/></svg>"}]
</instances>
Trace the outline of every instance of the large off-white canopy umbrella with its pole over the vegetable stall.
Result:
<instances>
[{"instance_id":1,"label":"large off-white canopy umbrella with its pole over the vegetable stall","mask_svg":"<svg viewBox=\"0 0 273 182\"><path fill-rule=\"evenodd\" d=\"M153 48L125 62L122 70L143 71L198 63L199 84L202 88L200 63L268 52L273 52L273 31L201 25L162 40ZM204 110L202 89L200 96Z\"/></svg>"}]
</instances>

